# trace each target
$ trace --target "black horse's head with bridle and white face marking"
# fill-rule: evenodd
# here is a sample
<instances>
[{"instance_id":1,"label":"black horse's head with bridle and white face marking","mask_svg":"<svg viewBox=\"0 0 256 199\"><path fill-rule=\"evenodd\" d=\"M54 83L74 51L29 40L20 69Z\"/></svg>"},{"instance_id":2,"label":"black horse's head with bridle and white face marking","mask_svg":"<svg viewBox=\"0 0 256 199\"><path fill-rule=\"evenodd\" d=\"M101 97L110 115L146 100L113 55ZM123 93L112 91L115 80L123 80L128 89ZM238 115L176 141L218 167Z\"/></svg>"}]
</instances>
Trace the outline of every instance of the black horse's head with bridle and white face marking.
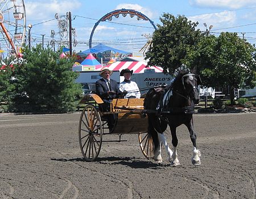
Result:
<instances>
[{"instance_id":1,"label":"black horse's head with bridle and white face marking","mask_svg":"<svg viewBox=\"0 0 256 199\"><path fill-rule=\"evenodd\" d=\"M183 71L177 76L177 81L180 80L180 86L183 88L184 96L188 96L191 100L197 104L199 103L199 89L198 85L201 84L201 78L199 75L193 73L192 71Z\"/></svg>"}]
</instances>

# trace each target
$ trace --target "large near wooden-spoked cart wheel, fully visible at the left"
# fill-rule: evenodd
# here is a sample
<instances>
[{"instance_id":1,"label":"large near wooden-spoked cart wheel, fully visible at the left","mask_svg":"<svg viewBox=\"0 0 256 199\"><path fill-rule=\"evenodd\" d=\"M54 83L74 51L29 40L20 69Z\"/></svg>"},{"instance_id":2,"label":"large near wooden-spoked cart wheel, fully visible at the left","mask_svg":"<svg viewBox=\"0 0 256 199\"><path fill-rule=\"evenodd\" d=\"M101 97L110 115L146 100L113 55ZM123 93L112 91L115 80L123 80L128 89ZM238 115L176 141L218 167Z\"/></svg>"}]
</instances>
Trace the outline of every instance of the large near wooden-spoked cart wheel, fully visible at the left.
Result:
<instances>
[{"instance_id":1,"label":"large near wooden-spoked cart wheel, fully visible at the left","mask_svg":"<svg viewBox=\"0 0 256 199\"><path fill-rule=\"evenodd\" d=\"M79 144L86 161L94 161L100 154L102 134L100 114L95 106L86 105L79 121Z\"/></svg>"}]
</instances>

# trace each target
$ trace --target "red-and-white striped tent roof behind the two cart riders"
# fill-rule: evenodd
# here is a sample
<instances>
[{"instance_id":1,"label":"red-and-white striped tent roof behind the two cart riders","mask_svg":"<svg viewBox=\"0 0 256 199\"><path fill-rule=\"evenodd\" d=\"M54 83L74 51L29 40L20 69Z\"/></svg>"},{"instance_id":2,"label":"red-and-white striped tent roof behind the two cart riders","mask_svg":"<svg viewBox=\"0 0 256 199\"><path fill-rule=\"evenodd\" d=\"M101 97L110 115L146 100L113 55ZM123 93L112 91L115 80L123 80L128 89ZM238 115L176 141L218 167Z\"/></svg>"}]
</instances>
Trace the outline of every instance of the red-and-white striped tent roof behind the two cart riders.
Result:
<instances>
[{"instance_id":1,"label":"red-and-white striped tent roof behind the two cart riders","mask_svg":"<svg viewBox=\"0 0 256 199\"><path fill-rule=\"evenodd\" d=\"M146 67L147 63L144 61L117 61L113 64L107 65L111 71L122 71L122 69L129 68L134 73L144 73L145 69L154 69L155 72L163 72L161 67Z\"/></svg>"}]
</instances>

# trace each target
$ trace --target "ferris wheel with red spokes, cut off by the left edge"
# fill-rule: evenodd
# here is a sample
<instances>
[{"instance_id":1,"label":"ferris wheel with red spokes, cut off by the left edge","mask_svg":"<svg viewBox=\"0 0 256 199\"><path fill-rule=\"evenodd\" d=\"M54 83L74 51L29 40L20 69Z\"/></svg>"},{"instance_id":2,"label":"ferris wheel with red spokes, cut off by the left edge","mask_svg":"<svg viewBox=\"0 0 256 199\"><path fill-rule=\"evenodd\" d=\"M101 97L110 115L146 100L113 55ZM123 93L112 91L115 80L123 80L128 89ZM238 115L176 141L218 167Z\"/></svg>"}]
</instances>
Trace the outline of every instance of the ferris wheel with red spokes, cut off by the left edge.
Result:
<instances>
[{"instance_id":1,"label":"ferris wheel with red spokes, cut off by the left edge","mask_svg":"<svg viewBox=\"0 0 256 199\"><path fill-rule=\"evenodd\" d=\"M23 0L0 0L0 56L17 54L26 35Z\"/></svg>"}]
</instances>

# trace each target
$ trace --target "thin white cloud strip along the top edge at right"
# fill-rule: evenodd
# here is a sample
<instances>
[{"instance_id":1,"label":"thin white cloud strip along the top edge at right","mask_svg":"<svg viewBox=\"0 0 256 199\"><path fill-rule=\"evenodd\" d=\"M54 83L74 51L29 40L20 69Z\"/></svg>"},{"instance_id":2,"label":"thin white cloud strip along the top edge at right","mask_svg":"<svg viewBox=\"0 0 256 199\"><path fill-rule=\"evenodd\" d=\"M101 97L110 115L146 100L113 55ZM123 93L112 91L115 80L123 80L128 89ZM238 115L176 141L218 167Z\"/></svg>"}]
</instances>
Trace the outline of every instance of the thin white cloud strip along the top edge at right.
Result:
<instances>
[{"instance_id":1,"label":"thin white cloud strip along the top edge at right","mask_svg":"<svg viewBox=\"0 0 256 199\"><path fill-rule=\"evenodd\" d=\"M256 6L255 0L189 0L192 6L197 7L215 7L215 8L228 8L240 9L246 6Z\"/></svg>"}]
</instances>

